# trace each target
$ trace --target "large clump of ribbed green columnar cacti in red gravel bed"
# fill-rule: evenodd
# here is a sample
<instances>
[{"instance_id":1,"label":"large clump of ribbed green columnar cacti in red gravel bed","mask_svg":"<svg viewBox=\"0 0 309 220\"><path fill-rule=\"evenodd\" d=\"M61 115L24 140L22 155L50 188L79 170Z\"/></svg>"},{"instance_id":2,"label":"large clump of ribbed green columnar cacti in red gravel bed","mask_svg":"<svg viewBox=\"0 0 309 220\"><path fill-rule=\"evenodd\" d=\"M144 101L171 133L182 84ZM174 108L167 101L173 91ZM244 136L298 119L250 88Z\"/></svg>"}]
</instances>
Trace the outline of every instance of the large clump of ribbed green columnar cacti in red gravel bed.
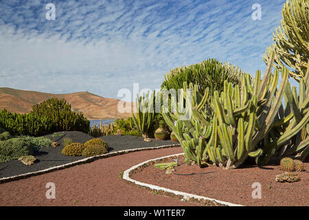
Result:
<instances>
[{"instance_id":1,"label":"large clump of ribbed green columnar cacti in red gravel bed","mask_svg":"<svg viewBox=\"0 0 309 220\"><path fill-rule=\"evenodd\" d=\"M254 85L249 75L242 76L241 88L225 80L223 91L220 94L214 91L210 104L206 103L208 89L205 90L204 96L201 96L196 91L197 86L190 85L190 120L179 120L177 113L163 111L165 122L181 142L187 160L193 160L198 166L210 161L222 168L237 168L248 156L256 157L257 163L268 162L270 155L277 151L277 146L286 144L308 124L308 92L304 96L304 102L307 100L307 103L301 104L298 109L301 115L299 121L295 118L295 105L289 106L293 113L288 117L278 116L282 98L288 90L288 69L281 69L282 82L277 89L279 70L271 72L273 58L274 54L262 80L260 71L255 75ZM185 97L186 86L183 88L182 96ZM290 121L288 129L284 130L279 138L266 138L273 137L274 126ZM294 121L297 123L293 123ZM305 151L306 154L308 142L305 139L293 147Z\"/></svg>"}]
</instances>

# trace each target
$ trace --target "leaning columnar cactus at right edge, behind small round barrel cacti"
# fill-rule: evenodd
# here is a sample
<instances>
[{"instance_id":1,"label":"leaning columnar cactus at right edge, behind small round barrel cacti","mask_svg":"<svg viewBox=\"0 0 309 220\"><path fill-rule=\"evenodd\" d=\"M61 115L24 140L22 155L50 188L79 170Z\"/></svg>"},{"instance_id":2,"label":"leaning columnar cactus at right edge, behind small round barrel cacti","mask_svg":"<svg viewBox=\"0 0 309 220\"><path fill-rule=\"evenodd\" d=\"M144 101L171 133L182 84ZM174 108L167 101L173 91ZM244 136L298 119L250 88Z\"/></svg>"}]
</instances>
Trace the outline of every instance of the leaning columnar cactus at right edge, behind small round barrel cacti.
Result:
<instances>
[{"instance_id":1,"label":"leaning columnar cactus at right edge, behind small round barrel cacti","mask_svg":"<svg viewBox=\"0 0 309 220\"><path fill-rule=\"evenodd\" d=\"M309 61L308 61L309 64ZM288 85L284 94L283 104L271 131L265 140L272 140L260 158L261 164L267 164L273 157L295 155L306 159L309 153L309 66L304 79L299 80L299 94L296 87ZM274 158L274 159L275 159Z\"/></svg>"}]
</instances>

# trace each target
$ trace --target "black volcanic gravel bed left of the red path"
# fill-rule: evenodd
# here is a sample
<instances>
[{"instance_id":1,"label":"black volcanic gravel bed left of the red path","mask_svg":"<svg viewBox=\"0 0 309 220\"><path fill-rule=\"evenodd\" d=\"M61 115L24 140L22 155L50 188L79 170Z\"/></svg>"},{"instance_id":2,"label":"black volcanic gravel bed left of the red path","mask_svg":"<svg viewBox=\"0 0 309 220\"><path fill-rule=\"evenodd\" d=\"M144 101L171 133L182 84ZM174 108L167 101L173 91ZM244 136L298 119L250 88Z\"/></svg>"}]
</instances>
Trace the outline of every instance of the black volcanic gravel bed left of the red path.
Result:
<instances>
[{"instance_id":1,"label":"black volcanic gravel bed left of the red path","mask_svg":"<svg viewBox=\"0 0 309 220\"><path fill-rule=\"evenodd\" d=\"M83 159L85 157L69 157L63 155L61 153L64 146L63 139L65 137L69 137L73 140L73 142L84 143L94 138L79 131L58 132L51 135L45 135L44 137L47 137L54 142L58 142L60 146L57 146L56 148L52 146L49 146L48 148L40 148L34 155L36 157L36 162L31 166L27 166L19 162L17 159L0 163L0 179L3 177L12 177L15 175L32 173ZM144 142L142 137L127 135L108 135L99 138L106 141L108 144L108 152L175 144L170 140L162 141L155 139L152 139L152 142Z\"/></svg>"}]
</instances>

